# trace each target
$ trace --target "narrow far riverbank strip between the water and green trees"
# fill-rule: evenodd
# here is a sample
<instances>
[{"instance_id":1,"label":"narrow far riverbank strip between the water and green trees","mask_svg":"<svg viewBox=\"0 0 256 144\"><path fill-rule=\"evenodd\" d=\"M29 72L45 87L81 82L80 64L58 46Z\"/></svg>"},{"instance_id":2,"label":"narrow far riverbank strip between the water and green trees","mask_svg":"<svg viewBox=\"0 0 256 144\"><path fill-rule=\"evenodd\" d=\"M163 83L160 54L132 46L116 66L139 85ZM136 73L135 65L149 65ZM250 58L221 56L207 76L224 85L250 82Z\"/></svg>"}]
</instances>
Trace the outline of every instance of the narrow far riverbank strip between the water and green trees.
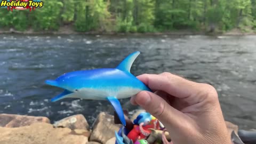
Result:
<instances>
[{"instance_id":1,"label":"narrow far riverbank strip between the water and green trees","mask_svg":"<svg viewBox=\"0 0 256 144\"><path fill-rule=\"evenodd\" d=\"M214 33L207 33L205 31L196 30L173 30L167 32L154 32L154 33L117 33L117 32L105 32L105 31L88 31L77 32L70 26L60 27L58 31L34 31L28 29L25 31L18 31L13 28L0 29L0 34L21 34L21 35L224 35L224 36L242 36L242 35L256 35L256 31L244 32L240 29L233 29L227 32L216 31Z\"/></svg>"}]
</instances>

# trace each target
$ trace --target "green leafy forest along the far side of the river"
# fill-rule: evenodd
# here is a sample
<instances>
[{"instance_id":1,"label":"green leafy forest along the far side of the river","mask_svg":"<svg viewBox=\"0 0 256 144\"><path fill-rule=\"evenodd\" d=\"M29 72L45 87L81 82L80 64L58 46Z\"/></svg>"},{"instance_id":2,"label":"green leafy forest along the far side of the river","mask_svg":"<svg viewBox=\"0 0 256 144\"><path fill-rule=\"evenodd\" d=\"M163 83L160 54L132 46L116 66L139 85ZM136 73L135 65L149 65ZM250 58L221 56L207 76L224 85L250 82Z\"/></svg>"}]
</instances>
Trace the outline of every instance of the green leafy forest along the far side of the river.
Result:
<instances>
[{"instance_id":1,"label":"green leafy forest along the far side of the river","mask_svg":"<svg viewBox=\"0 0 256 144\"><path fill-rule=\"evenodd\" d=\"M256 0L46 0L35 11L0 8L1 29L155 33L256 30Z\"/></svg>"}]
</instances>

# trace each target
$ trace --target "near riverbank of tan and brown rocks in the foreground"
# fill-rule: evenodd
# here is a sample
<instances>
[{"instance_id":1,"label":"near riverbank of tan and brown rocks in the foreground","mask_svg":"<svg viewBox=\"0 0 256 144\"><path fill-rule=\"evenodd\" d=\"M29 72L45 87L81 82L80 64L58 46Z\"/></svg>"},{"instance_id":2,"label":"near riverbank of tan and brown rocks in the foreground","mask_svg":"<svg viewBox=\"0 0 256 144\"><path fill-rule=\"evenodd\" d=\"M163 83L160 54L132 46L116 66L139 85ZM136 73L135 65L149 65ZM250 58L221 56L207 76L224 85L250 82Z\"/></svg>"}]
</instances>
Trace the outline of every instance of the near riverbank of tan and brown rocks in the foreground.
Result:
<instances>
[{"instance_id":1,"label":"near riverbank of tan and brown rocks in the foreground","mask_svg":"<svg viewBox=\"0 0 256 144\"><path fill-rule=\"evenodd\" d=\"M134 113L131 120L136 118L140 112L141 110L138 110ZM49 118L42 116L0 114L0 143L113 144L116 140L115 131L122 126L115 122L115 117L105 112L98 115L92 129L82 114L63 118L54 124L51 124ZM234 140L235 144L243 143L238 136L238 126L228 121L226 121L226 126L231 141ZM152 130L147 137L149 144L163 143L162 133L161 130ZM168 132L165 132L165 137L170 141L171 137Z\"/></svg>"}]
</instances>

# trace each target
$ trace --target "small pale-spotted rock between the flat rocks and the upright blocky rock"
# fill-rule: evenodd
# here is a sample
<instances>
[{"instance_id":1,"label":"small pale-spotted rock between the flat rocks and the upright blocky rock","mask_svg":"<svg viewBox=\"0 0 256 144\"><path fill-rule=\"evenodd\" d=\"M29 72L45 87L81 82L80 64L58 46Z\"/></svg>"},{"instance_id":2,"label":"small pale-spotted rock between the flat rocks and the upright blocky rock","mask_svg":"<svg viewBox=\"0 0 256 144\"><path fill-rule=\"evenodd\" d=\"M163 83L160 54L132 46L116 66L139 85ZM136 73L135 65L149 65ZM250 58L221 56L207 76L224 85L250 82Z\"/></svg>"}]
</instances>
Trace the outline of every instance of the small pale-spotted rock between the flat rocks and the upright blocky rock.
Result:
<instances>
[{"instance_id":1,"label":"small pale-spotted rock between the flat rocks and the upright blocky rock","mask_svg":"<svg viewBox=\"0 0 256 144\"><path fill-rule=\"evenodd\" d=\"M71 130L84 129L89 130L89 124L87 123L85 117L81 114L73 115L61 119L53 124L54 127L68 127Z\"/></svg>"}]
</instances>

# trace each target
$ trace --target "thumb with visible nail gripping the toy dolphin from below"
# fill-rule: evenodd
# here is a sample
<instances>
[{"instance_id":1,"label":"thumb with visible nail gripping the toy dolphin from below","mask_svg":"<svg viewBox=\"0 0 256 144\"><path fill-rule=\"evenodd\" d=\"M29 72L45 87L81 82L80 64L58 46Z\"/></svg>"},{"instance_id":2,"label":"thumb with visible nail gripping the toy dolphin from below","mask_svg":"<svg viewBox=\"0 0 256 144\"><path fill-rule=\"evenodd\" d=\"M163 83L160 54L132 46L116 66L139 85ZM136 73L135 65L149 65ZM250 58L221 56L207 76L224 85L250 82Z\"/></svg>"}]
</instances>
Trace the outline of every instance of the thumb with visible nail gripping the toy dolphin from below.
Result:
<instances>
[{"instance_id":1,"label":"thumb with visible nail gripping the toy dolphin from below","mask_svg":"<svg viewBox=\"0 0 256 144\"><path fill-rule=\"evenodd\" d=\"M186 115L170 106L162 97L148 91L141 91L134 96L134 101L161 121L167 130L175 129L186 121Z\"/></svg>"}]
</instances>

